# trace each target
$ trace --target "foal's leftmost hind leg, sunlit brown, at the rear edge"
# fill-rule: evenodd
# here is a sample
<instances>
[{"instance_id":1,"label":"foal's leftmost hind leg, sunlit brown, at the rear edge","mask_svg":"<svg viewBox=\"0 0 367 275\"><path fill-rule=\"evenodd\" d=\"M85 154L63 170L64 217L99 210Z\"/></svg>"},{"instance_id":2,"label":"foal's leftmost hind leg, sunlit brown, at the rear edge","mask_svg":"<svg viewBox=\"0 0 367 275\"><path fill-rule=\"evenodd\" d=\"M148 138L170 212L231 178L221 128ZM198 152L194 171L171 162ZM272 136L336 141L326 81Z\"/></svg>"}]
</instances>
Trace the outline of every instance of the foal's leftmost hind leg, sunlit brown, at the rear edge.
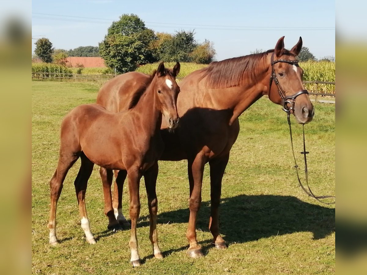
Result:
<instances>
[{"instance_id":1,"label":"foal's leftmost hind leg, sunlit brown, at the rear edge","mask_svg":"<svg viewBox=\"0 0 367 275\"><path fill-rule=\"evenodd\" d=\"M60 150L61 151L61 150ZM58 243L56 237L56 206L57 201L60 197L63 182L65 180L66 174L69 169L79 158L79 154L73 153L60 153L59 162L50 181L50 193L51 193L51 209L50 209L50 219L48 220L48 230L50 231L50 244L56 245Z\"/></svg>"}]
</instances>

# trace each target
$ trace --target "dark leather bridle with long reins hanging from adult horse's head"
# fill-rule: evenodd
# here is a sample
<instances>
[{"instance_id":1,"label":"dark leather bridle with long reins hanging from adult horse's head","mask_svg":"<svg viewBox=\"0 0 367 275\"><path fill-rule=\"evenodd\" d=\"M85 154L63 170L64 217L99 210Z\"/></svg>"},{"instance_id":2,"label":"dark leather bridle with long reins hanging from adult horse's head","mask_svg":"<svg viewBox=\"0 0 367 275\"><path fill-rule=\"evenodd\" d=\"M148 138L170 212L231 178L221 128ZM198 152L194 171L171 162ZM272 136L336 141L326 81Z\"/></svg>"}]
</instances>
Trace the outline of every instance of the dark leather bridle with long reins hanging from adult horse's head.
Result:
<instances>
[{"instance_id":1,"label":"dark leather bridle with long reins hanging from adult horse's head","mask_svg":"<svg viewBox=\"0 0 367 275\"><path fill-rule=\"evenodd\" d=\"M284 62L284 63L288 63L288 64L298 64L297 60L286 60L286 59L277 59L274 61L274 53L271 56L271 66L272 66L272 74L270 76L270 82L269 82L269 96L270 96L270 89L272 87L272 83L273 81L275 82L276 86L277 86L277 90L279 92L280 98L282 99L282 109L287 113L287 120L288 120L288 125L289 125L289 132L290 132L290 137L291 137L291 145L292 145L292 153L293 153L293 158L294 158L294 168L296 170L297 173L297 178L298 178L298 183L299 185L302 187L302 189L305 191L305 193L311 197L316 199L317 201L327 204L327 205L331 205L331 204L335 204L335 200L333 202L324 202L321 201L321 199L327 199L327 198L335 198L335 196L315 196L313 194L313 192L311 191L309 185L308 185L308 169L307 169L307 157L306 155L309 154L309 152L306 151L306 144L305 144L305 125L302 124L302 129L303 129L303 152L301 152L302 155L304 155L304 159L305 159L305 178L306 178L306 184L307 184L307 189L302 185L301 180L299 179L299 175L298 175L298 165L297 165L297 161L294 155L294 148L293 148L293 137L292 137L292 128L291 128L291 120L290 120L290 114L291 111L294 112L294 103L295 103L295 99L297 98L297 96L302 95L302 94L308 94L307 90L301 90L299 92L297 92L294 95L290 95L287 96L286 93L283 91L283 89L280 87L278 78L275 74L275 70L274 70L274 64L278 63L278 62ZM288 107L288 103L291 105L290 107Z\"/></svg>"}]
</instances>

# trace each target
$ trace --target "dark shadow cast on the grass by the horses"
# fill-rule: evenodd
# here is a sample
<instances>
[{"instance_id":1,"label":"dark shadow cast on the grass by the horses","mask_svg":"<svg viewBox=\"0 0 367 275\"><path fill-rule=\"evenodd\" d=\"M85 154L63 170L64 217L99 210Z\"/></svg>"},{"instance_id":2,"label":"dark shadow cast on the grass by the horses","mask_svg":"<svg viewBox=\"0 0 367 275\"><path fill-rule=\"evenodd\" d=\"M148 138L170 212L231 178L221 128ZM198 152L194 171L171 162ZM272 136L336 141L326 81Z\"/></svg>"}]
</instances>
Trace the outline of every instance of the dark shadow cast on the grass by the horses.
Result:
<instances>
[{"instance_id":1,"label":"dark shadow cast on the grass by the horses","mask_svg":"<svg viewBox=\"0 0 367 275\"><path fill-rule=\"evenodd\" d=\"M209 231L209 216L210 201L202 202L196 228ZM145 221L138 226L149 226L149 217L142 219ZM335 208L303 202L291 196L239 195L224 198L219 206L219 219L221 235L229 245L295 232L312 232L313 239L321 239L335 232ZM158 224L184 223L183 226L187 226L188 220L188 208L158 214ZM199 243L206 254L210 242ZM167 254L171 252L173 250Z\"/></svg>"}]
</instances>

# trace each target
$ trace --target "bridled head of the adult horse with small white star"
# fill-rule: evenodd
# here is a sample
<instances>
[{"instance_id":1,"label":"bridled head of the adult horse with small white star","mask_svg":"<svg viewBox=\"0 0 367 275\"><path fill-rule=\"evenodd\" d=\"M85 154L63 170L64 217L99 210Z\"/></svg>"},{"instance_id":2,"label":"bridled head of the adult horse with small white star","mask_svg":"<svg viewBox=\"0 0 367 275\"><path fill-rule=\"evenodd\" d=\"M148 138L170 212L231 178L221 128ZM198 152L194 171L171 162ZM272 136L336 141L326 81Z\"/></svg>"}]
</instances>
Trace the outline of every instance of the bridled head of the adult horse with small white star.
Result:
<instances>
[{"instance_id":1,"label":"bridled head of the adult horse with small white star","mask_svg":"<svg viewBox=\"0 0 367 275\"><path fill-rule=\"evenodd\" d=\"M275 73L277 81L279 81L278 86L281 87L285 96L290 98L295 96L293 99L289 99L284 103L279 94L280 92L278 92L276 83L273 83L269 91L269 99L277 104L286 104L287 106L284 107L287 107L291 110L291 113L294 114L297 122L300 124L305 124L312 121L314 109L302 82L303 69L298 66L296 58L301 51L301 48L302 38L299 37L298 43L290 51L284 49L283 36L278 40L274 52L269 54L269 56L271 55L273 59L270 60L270 63L274 62L273 72ZM269 70L272 70L271 65ZM305 93L301 93L302 91ZM299 92L301 94L297 95Z\"/></svg>"}]
</instances>

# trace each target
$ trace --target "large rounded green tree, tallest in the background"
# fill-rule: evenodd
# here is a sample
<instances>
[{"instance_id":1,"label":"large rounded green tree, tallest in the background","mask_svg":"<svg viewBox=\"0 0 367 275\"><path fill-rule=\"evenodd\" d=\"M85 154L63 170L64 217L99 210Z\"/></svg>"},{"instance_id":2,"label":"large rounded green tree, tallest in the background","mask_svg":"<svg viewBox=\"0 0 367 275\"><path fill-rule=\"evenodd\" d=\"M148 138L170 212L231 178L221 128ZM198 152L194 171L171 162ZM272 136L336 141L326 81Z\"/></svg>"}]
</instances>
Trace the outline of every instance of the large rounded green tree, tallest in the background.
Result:
<instances>
[{"instance_id":1,"label":"large rounded green tree, tallest in the background","mask_svg":"<svg viewBox=\"0 0 367 275\"><path fill-rule=\"evenodd\" d=\"M119 73L134 71L139 65L156 61L150 47L155 41L153 30L134 14L124 14L109 27L105 39L99 44L99 53L106 66Z\"/></svg>"}]
</instances>

